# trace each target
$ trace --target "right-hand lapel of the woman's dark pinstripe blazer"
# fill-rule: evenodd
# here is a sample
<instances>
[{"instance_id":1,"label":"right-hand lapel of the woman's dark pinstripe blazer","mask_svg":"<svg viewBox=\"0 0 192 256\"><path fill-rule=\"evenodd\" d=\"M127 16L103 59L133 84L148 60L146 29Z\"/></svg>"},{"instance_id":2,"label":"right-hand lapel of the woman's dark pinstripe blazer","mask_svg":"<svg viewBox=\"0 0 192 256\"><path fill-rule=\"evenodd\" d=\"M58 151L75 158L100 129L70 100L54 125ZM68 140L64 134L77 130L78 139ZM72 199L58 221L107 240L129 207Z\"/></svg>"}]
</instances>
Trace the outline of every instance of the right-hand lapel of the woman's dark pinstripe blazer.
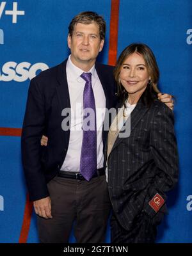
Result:
<instances>
[{"instance_id":1,"label":"right-hand lapel of the woman's dark pinstripe blazer","mask_svg":"<svg viewBox=\"0 0 192 256\"><path fill-rule=\"evenodd\" d=\"M131 116L129 116L129 118L127 118L125 125L127 124L127 122L131 122L131 132L132 130L136 127L136 125L140 122L141 118L145 115L145 113L147 113L148 108L146 106L143 105L143 103L141 102L141 99L138 101L138 104L136 105L136 107L133 109L133 111L131 112ZM129 138L129 137L127 137ZM111 152L113 151L113 149L118 146L118 144L122 141L125 140L125 138L121 138L119 135L116 138L116 141L113 145L113 148L111 149Z\"/></svg>"}]
</instances>

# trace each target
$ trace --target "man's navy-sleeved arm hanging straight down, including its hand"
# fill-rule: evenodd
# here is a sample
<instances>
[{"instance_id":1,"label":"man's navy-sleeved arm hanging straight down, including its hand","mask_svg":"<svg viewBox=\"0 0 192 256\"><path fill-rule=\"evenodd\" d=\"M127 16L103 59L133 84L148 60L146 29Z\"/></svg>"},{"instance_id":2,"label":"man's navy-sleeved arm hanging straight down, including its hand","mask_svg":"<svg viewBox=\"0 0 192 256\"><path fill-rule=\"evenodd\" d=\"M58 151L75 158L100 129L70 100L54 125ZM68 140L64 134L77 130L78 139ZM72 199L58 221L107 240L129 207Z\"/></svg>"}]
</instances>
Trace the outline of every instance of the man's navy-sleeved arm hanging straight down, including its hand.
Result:
<instances>
[{"instance_id":1,"label":"man's navy-sleeved arm hanging straight down, including its hand","mask_svg":"<svg viewBox=\"0 0 192 256\"><path fill-rule=\"evenodd\" d=\"M41 166L40 139L45 130L44 97L38 83L31 80L22 127L21 151L24 174L29 190L29 198L34 202L35 212L40 216L50 216L50 198L44 172ZM47 199L46 199L47 198ZM47 211L49 209L49 211Z\"/></svg>"}]
</instances>

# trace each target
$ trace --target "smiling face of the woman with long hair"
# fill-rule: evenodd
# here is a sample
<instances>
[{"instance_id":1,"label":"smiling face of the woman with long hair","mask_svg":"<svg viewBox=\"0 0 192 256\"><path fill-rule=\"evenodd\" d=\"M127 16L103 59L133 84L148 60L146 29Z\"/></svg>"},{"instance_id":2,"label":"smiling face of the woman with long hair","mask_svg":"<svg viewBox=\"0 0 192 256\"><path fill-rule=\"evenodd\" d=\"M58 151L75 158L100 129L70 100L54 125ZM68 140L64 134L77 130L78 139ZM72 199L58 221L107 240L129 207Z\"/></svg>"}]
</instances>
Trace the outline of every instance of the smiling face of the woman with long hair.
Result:
<instances>
[{"instance_id":1,"label":"smiling face of the woman with long hair","mask_svg":"<svg viewBox=\"0 0 192 256\"><path fill-rule=\"evenodd\" d=\"M148 75L147 67L143 56L137 52L129 55L120 70L120 81L129 94L141 95L147 87Z\"/></svg>"}]
</instances>

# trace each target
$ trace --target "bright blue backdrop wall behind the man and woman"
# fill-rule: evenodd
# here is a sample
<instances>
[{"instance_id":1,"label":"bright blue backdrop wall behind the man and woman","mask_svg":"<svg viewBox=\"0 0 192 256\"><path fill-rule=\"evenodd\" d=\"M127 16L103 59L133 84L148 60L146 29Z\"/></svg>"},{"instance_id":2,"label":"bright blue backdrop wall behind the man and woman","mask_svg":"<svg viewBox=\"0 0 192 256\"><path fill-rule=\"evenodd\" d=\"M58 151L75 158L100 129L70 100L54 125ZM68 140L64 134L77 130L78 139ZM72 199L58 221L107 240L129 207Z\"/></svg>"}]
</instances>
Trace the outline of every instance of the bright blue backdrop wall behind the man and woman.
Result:
<instances>
[{"instance_id":1,"label":"bright blue backdrop wall behind the man and woman","mask_svg":"<svg viewBox=\"0 0 192 256\"><path fill-rule=\"evenodd\" d=\"M99 61L108 63L110 0L0 1L0 127L22 127L29 79L67 58L68 24L84 10L106 19L106 44ZM148 44L161 71L159 87L176 98L180 177L178 186L168 194L170 214L159 226L158 243L192 242L190 10L191 0L120 0L118 55L132 42ZM0 170L0 243L18 243L27 193L20 137L0 136ZM110 242L109 228L106 241ZM28 243L36 242L33 213Z\"/></svg>"}]
</instances>

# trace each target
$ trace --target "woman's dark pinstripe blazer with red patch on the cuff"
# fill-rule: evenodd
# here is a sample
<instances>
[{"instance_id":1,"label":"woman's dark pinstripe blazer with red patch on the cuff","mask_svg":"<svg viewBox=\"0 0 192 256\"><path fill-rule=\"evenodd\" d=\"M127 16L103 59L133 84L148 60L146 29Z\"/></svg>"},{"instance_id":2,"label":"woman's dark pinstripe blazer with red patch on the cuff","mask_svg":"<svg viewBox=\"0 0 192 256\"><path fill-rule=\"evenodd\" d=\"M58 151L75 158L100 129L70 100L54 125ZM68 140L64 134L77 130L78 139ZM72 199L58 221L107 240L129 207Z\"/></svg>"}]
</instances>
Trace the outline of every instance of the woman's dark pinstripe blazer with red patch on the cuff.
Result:
<instances>
[{"instance_id":1,"label":"woman's dark pinstripe blazer with red patch on the cuff","mask_svg":"<svg viewBox=\"0 0 192 256\"><path fill-rule=\"evenodd\" d=\"M165 193L178 179L173 123L173 112L164 103L156 99L147 108L139 100L131 113L130 136L118 136L108 156L109 196L127 230L141 212L153 221L166 212Z\"/></svg>"}]
</instances>

